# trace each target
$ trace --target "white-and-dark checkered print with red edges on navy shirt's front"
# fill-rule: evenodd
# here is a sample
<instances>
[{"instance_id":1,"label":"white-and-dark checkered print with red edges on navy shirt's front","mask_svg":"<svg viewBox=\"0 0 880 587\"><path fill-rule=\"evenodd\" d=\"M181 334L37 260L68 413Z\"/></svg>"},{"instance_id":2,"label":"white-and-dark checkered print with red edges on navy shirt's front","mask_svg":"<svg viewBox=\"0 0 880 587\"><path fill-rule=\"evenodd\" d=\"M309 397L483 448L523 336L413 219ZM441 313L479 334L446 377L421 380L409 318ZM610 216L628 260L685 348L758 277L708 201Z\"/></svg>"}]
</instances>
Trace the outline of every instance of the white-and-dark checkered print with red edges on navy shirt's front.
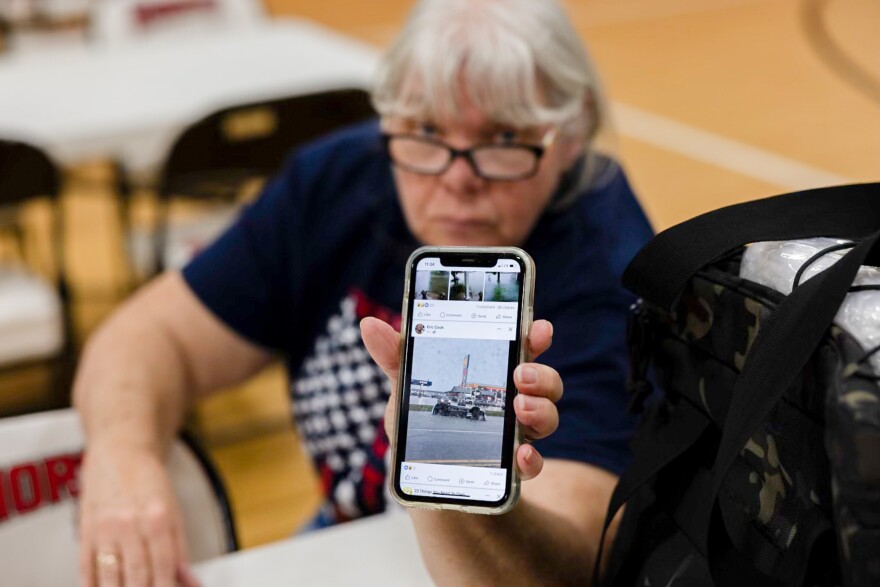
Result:
<instances>
[{"instance_id":1,"label":"white-and-dark checkered print with red edges on navy shirt's front","mask_svg":"<svg viewBox=\"0 0 880 587\"><path fill-rule=\"evenodd\" d=\"M400 327L399 314L351 292L291 382L294 418L332 510L324 513L335 521L385 509L383 421L391 387L361 340L367 316Z\"/></svg>"}]
</instances>

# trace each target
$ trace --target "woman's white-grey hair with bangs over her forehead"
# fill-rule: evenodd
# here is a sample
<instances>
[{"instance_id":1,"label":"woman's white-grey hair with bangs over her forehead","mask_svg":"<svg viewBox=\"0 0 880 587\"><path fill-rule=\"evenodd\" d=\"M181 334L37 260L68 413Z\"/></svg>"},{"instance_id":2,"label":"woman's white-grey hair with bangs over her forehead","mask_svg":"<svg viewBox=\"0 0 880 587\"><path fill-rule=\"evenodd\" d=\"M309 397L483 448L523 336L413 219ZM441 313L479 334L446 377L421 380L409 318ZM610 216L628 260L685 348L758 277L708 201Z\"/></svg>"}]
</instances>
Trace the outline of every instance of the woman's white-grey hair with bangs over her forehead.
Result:
<instances>
[{"instance_id":1,"label":"woman's white-grey hair with bangs over her forehead","mask_svg":"<svg viewBox=\"0 0 880 587\"><path fill-rule=\"evenodd\" d=\"M437 120L463 97L495 122L583 129L588 143L604 118L586 48L556 0L418 3L380 65L376 110Z\"/></svg>"}]
</instances>

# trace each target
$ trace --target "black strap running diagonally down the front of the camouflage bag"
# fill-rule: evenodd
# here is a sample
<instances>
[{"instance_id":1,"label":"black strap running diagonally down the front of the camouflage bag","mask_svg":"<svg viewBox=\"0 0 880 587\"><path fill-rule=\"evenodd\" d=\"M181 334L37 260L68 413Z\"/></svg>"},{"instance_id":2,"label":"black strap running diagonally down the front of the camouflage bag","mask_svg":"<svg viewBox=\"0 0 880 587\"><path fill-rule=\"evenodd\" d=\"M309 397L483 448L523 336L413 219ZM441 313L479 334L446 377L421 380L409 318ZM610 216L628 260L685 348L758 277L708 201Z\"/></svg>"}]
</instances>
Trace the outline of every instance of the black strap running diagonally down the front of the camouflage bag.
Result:
<instances>
[{"instance_id":1,"label":"black strap running diagonally down the front of the camouflage bag","mask_svg":"<svg viewBox=\"0 0 880 587\"><path fill-rule=\"evenodd\" d=\"M745 365L733 390L721 441L711 475L693 494L695 507L688 530L709 557L716 584L754 585L736 567L718 569L713 559L716 549L710 539L726 532L718 520L716 498L727 472L749 437L782 398L810 359L846 296L861 265L880 263L880 232L853 248L835 265L799 286L768 317L746 356ZM714 526L714 528L713 528ZM816 537L795 537L795 540ZM786 584L797 584L795 577L805 570L793 563ZM722 572L723 571L723 572ZM802 578L802 577L801 577Z\"/></svg>"}]
</instances>

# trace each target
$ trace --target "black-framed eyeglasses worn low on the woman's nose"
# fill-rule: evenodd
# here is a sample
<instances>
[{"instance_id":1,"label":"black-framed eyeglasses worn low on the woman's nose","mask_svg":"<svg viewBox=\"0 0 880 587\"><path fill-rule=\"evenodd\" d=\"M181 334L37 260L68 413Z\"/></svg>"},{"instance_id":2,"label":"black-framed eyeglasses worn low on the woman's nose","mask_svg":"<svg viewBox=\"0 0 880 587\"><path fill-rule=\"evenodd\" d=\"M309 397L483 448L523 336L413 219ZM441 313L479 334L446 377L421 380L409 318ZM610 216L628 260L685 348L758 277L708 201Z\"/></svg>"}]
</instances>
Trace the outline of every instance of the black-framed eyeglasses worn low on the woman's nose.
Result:
<instances>
[{"instance_id":1,"label":"black-framed eyeglasses worn low on the woman's nose","mask_svg":"<svg viewBox=\"0 0 880 587\"><path fill-rule=\"evenodd\" d=\"M413 173L442 175L457 157L462 157L478 177L515 181L538 172L541 157L557 135L558 129L551 128L539 145L485 144L469 149L456 149L440 139L418 135L383 133L382 138L394 165Z\"/></svg>"}]
</instances>

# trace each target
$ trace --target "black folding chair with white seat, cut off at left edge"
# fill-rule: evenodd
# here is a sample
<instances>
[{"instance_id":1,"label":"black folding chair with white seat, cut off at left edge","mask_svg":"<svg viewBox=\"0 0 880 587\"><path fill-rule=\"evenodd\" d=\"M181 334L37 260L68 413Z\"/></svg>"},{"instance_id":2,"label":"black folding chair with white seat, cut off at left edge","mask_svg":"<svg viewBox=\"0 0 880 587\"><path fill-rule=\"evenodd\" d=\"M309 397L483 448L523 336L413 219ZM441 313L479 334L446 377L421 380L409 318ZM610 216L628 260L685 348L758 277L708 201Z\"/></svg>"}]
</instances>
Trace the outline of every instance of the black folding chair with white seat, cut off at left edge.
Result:
<instances>
[{"instance_id":1,"label":"black folding chair with white seat, cut off at left edge","mask_svg":"<svg viewBox=\"0 0 880 587\"><path fill-rule=\"evenodd\" d=\"M4 381L19 394L23 389L17 382L29 385L35 373L48 369L50 374L48 402L7 397L0 402L9 406L7 414L69 401L74 353L59 191L59 171L45 153L0 140L0 235L8 253L0 262L0 374L10 376ZM48 208L45 233L28 214L40 206L37 202Z\"/></svg>"}]
</instances>

